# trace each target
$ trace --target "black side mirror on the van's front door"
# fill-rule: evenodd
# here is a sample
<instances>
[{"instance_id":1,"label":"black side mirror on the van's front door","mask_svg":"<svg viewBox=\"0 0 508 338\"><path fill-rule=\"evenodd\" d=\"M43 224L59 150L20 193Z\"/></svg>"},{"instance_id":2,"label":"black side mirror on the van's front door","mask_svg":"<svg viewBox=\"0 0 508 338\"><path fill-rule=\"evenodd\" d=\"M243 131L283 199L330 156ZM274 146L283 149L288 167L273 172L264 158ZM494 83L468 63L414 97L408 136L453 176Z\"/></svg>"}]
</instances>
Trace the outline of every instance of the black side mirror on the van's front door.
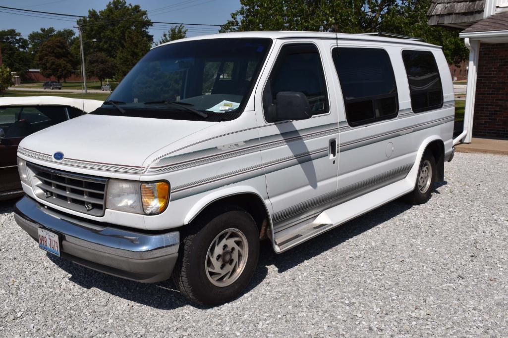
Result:
<instances>
[{"instance_id":1,"label":"black side mirror on the van's front door","mask_svg":"<svg viewBox=\"0 0 508 338\"><path fill-rule=\"evenodd\" d=\"M312 116L307 96L299 91L280 91L276 96L274 122L305 120Z\"/></svg>"}]
</instances>

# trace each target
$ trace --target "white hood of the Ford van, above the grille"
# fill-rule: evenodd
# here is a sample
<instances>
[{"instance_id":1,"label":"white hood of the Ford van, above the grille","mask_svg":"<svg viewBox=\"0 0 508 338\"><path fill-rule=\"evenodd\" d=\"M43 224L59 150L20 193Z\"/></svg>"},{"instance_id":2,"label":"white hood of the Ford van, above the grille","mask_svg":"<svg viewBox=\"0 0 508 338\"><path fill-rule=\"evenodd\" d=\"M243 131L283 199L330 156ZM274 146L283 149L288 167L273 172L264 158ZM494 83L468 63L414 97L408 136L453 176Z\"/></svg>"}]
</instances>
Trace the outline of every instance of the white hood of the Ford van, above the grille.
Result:
<instances>
[{"instance_id":1,"label":"white hood of the Ford van, above the grille","mask_svg":"<svg viewBox=\"0 0 508 338\"><path fill-rule=\"evenodd\" d=\"M31 134L18 151L60 164L141 174L151 154L216 123L83 115ZM63 159L55 160L56 152Z\"/></svg>"}]
</instances>

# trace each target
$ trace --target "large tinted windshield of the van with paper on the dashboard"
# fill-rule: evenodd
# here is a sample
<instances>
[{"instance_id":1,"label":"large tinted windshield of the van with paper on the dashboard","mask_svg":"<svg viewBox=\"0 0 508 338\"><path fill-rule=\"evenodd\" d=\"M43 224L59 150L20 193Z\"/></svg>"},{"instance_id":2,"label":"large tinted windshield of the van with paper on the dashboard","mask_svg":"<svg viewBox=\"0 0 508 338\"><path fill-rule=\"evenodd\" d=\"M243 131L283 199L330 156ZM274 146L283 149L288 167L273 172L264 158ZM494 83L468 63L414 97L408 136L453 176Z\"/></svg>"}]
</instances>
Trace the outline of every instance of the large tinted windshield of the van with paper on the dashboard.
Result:
<instances>
[{"instance_id":1,"label":"large tinted windshield of the van with paper on the dashboard","mask_svg":"<svg viewBox=\"0 0 508 338\"><path fill-rule=\"evenodd\" d=\"M156 47L92 114L233 119L241 113L270 45L270 39L239 38Z\"/></svg>"}]
</instances>

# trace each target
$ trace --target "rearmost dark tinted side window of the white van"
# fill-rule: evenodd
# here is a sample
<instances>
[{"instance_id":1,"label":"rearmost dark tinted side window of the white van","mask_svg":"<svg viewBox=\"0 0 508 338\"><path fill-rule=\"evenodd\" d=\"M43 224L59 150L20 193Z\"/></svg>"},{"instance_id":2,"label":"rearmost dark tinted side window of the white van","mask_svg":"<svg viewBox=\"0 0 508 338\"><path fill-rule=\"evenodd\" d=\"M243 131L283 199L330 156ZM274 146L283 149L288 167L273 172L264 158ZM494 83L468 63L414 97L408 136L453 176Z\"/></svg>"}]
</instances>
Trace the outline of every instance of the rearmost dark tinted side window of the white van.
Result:
<instances>
[{"instance_id":1,"label":"rearmost dark tinted side window of the white van","mask_svg":"<svg viewBox=\"0 0 508 338\"><path fill-rule=\"evenodd\" d=\"M412 110L422 113L441 108L443 90L434 55L429 51L404 50L402 59L409 82Z\"/></svg>"}]
</instances>

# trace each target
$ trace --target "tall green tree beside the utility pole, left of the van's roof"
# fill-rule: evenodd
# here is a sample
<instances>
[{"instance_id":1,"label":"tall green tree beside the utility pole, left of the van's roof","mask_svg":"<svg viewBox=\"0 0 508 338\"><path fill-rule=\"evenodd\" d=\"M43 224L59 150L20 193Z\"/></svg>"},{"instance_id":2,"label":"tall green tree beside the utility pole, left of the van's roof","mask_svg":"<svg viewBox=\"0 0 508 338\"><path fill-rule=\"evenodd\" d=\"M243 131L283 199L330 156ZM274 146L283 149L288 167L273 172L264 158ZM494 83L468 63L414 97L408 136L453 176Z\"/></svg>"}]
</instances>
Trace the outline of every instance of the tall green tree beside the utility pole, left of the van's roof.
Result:
<instances>
[{"instance_id":1,"label":"tall green tree beside the utility pole, left of the van's roof","mask_svg":"<svg viewBox=\"0 0 508 338\"><path fill-rule=\"evenodd\" d=\"M83 40L96 39L97 42L85 45L85 54L102 52L114 60L118 78L150 50L153 36L148 28L152 23L139 5L112 0L104 10L89 10L88 16L78 20Z\"/></svg>"}]
</instances>

